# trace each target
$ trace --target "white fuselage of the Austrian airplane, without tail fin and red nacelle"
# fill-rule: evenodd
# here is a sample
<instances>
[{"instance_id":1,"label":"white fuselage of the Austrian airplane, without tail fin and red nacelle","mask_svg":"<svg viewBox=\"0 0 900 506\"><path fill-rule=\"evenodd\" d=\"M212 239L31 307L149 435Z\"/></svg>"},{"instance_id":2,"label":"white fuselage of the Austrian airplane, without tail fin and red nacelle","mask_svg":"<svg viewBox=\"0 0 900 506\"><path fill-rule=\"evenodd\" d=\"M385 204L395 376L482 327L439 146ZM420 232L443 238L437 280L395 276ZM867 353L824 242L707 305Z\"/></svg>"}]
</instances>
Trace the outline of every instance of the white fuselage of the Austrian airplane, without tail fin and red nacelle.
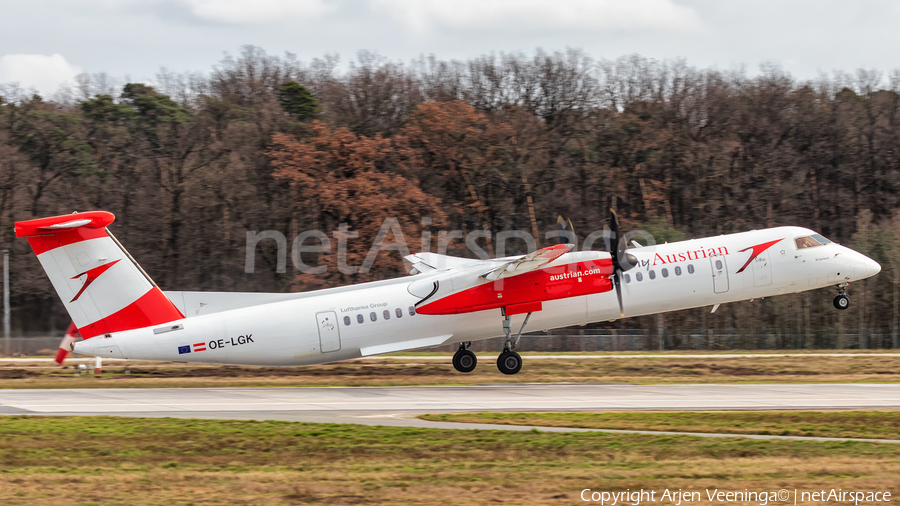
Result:
<instances>
[{"instance_id":1,"label":"white fuselage of the Austrian airplane, without tail fin and red nacelle","mask_svg":"<svg viewBox=\"0 0 900 506\"><path fill-rule=\"evenodd\" d=\"M639 265L621 280L625 317L836 286L880 271L873 260L838 244L798 249L795 238L810 234L814 232L804 228L779 227L629 249ZM757 253L754 246L776 240L745 266ZM548 268L585 255L597 253L567 253ZM500 309L454 315L411 311L421 297L410 293L410 284L441 275L446 271L303 294L209 294L205 303L204 294L174 292L170 298L187 316L184 320L97 336L76 343L74 351L140 360L287 366L503 335ZM255 305L231 309L247 303ZM524 316L512 317L514 329ZM528 328L620 317L613 290L546 301Z\"/></svg>"}]
</instances>

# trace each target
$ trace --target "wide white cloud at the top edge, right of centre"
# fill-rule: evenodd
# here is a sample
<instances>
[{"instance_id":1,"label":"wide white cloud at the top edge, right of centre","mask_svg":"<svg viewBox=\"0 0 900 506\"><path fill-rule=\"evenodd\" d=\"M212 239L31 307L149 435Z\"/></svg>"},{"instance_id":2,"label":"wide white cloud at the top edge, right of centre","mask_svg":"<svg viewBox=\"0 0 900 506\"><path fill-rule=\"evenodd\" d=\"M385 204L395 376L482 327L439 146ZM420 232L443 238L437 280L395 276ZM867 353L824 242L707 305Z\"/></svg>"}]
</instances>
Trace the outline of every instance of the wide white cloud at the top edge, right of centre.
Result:
<instances>
[{"instance_id":1,"label":"wide white cloud at the top edge, right of centre","mask_svg":"<svg viewBox=\"0 0 900 506\"><path fill-rule=\"evenodd\" d=\"M370 0L407 28L542 33L555 31L660 30L702 27L690 7L674 0Z\"/></svg>"}]
</instances>

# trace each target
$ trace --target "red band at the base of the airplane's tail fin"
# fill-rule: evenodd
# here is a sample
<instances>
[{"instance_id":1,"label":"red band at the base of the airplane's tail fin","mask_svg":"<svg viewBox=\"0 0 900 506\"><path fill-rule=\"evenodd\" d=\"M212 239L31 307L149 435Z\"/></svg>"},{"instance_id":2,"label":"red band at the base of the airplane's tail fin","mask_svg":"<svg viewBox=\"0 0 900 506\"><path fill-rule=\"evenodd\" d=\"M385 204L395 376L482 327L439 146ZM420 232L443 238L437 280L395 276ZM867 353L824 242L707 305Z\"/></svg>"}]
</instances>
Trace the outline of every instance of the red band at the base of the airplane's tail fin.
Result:
<instances>
[{"instance_id":1,"label":"red band at the base of the airplane's tail fin","mask_svg":"<svg viewBox=\"0 0 900 506\"><path fill-rule=\"evenodd\" d=\"M158 287L115 313L78 329L84 339L181 320L184 315Z\"/></svg>"}]
</instances>

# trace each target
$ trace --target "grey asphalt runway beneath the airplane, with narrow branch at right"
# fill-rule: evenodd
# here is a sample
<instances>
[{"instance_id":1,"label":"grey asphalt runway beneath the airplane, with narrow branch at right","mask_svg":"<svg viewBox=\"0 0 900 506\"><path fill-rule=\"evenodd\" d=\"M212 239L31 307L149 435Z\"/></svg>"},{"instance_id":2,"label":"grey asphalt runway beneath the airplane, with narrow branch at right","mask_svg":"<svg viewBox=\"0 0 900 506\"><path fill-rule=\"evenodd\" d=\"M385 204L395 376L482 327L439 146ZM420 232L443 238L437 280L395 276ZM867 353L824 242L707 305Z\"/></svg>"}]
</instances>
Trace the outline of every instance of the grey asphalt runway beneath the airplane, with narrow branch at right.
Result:
<instances>
[{"instance_id":1,"label":"grey asphalt runway beneath the airplane, with narrow branch at right","mask_svg":"<svg viewBox=\"0 0 900 506\"><path fill-rule=\"evenodd\" d=\"M423 413L900 409L900 384L496 384L468 387L0 390L3 415L286 420L400 427L587 432L592 429L430 422ZM676 434L646 431L615 431ZM684 434L684 433L680 433ZM706 437L846 440L788 436ZM868 440L871 441L871 440ZM881 440L900 443L900 441Z\"/></svg>"}]
</instances>

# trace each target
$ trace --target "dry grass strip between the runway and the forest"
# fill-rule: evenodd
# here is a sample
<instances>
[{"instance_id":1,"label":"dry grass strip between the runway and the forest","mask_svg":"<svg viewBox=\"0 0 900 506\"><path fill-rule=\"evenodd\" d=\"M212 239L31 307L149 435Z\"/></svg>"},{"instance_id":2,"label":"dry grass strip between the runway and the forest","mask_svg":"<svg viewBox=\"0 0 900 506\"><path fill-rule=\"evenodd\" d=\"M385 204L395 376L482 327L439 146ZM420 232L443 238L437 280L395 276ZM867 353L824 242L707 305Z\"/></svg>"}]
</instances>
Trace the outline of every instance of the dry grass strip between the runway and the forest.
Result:
<instances>
[{"instance_id":1,"label":"dry grass strip between the runway and the forest","mask_svg":"<svg viewBox=\"0 0 900 506\"><path fill-rule=\"evenodd\" d=\"M306 367L238 367L131 362L109 363L101 378L78 376L47 363L0 364L4 388L159 388L260 386L388 386L507 382L602 383L864 383L900 381L896 356L560 358L528 360L515 376L497 371L495 357L482 354L478 368L460 374L446 360L396 357Z\"/></svg>"}]
</instances>

